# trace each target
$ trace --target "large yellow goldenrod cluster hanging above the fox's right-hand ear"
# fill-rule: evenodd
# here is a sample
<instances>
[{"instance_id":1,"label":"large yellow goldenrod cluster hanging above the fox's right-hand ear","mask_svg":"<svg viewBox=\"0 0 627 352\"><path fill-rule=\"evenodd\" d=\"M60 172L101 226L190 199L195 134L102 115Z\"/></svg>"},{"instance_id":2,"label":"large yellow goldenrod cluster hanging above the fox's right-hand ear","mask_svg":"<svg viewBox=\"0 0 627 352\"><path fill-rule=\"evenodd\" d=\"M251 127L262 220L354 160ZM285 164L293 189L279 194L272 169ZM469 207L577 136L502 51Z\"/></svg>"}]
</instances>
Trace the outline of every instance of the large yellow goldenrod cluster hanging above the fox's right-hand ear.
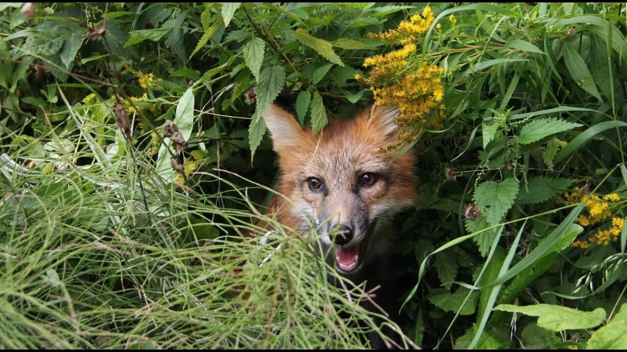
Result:
<instances>
[{"instance_id":1,"label":"large yellow goldenrod cluster hanging above the fox's right-hand ear","mask_svg":"<svg viewBox=\"0 0 627 352\"><path fill-rule=\"evenodd\" d=\"M420 62L416 54L416 39L428 31L435 16L428 6L422 14L414 14L409 21L402 21L398 28L385 33L372 34L372 38L402 44L401 49L364 60L370 68L367 78L355 75L355 79L369 85L377 105L397 106L401 111L395 122L399 128L397 148L408 140L415 140L425 127L441 129L445 106L444 86L441 76L444 70L427 62ZM440 105L433 118L431 113Z\"/></svg>"}]
</instances>

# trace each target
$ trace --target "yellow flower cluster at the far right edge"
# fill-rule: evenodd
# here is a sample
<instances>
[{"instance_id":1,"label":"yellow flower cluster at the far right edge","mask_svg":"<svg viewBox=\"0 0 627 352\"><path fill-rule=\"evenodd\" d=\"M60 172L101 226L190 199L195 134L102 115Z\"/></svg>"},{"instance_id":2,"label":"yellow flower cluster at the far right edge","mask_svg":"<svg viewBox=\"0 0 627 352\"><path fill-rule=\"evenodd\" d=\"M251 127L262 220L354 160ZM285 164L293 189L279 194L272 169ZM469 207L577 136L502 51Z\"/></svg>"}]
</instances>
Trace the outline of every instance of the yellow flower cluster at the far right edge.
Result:
<instances>
[{"instance_id":1,"label":"yellow flower cluster at the far right edge","mask_svg":"<svg viewBox=\"0 0 627 352\"><path fill-rule=\"evenodd\" d=\"M587 195L579 192L575 187L575 192L566 192L563 196L558 196L557 204L571 205L581 203L586 200ZM586 249L590 244L598 244L599 246L607 246L609 242L616 241L621 234L624 225L624 218L613 217L610 209L611 203L619 202L621 198L618 194L606 194L603 197L591 195L586 202L586 214L579 215L575 222L582 226L591 226L603 222L603 220L612 218L612 225L609 229L597 229L596 232L582 241L572 242L573 247Z\"/></svg>"}]
</instances>

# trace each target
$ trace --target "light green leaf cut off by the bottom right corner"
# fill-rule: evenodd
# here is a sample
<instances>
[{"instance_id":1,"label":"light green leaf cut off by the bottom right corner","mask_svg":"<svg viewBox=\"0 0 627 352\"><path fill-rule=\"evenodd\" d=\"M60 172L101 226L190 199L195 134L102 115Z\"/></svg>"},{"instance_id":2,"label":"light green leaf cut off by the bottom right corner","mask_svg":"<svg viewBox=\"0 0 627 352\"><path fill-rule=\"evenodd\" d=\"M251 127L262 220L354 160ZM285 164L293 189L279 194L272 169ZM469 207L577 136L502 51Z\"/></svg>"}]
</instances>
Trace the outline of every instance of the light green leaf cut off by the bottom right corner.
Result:
<instances>
[{"instance_id":1,"label":"light green leaf cut off by the bottom right corner","mask_svg":"<svg viewBox=\"0 0 627 352\"><path fill-rule=\"evenodd\" d=\"M606 326L592 333L586 349L627 349L627 303Z\"/></svg>"}]
</instances>

